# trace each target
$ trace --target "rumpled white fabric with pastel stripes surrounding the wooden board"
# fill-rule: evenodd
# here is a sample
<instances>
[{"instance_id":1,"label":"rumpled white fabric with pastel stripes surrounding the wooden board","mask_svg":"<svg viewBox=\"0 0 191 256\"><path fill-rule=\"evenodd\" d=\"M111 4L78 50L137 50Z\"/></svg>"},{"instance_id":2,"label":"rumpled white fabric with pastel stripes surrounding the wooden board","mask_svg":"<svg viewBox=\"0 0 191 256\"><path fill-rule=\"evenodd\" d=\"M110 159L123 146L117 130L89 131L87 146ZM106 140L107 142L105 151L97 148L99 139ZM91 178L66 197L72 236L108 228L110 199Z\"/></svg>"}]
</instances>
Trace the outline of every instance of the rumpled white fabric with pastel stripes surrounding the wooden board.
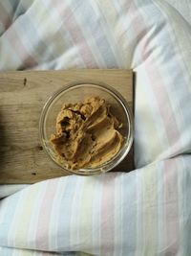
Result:
<instances>
[{"instance_id":1,"label":"rumpled white fabric with pastel stripes surrounding the wooden board","mask_svg":"<svg viewBox=\"0 0 191 256\"><path fill-rule=\"evenodd\" d=\"M0 186L0 255L191 255L187 20L162 0L0 0L1 70L136 72L136 170Z\"/></svg>"}]
</instances>

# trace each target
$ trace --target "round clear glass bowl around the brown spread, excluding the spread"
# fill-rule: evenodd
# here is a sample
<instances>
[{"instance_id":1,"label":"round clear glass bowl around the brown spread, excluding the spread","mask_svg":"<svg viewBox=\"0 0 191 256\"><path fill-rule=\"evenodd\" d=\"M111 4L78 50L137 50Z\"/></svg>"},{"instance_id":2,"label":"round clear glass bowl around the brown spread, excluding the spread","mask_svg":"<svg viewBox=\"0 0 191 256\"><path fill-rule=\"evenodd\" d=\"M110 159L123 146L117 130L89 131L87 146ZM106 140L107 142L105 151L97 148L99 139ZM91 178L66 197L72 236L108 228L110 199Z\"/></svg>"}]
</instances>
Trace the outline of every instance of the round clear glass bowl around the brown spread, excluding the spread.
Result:
<instances>
[{"instance_id":1,"label":"round clear glass bowl around the brown spread, excluding the spread","mask_svg":"<svg viewBox=\"0 0 191 256\"><path fill-rule=\"evenodd\" d=\"M83 102L89 97L99 96L111 105L110 109L122 128L117 130L122 134L124 143L117 154L108 162L95 168L81 168L77 170L68 169L64 164L57 161L51 135L55 132L57 114L62 105ZM124 98L110 85L100 81L74 81L56 91L44 105L39 123L40 140L44 150L53 162L69 173L76 175L96 175L106 173L117 167L131 149L133 143L133 118L131 110Z\"/></svg>"}]
</instances>

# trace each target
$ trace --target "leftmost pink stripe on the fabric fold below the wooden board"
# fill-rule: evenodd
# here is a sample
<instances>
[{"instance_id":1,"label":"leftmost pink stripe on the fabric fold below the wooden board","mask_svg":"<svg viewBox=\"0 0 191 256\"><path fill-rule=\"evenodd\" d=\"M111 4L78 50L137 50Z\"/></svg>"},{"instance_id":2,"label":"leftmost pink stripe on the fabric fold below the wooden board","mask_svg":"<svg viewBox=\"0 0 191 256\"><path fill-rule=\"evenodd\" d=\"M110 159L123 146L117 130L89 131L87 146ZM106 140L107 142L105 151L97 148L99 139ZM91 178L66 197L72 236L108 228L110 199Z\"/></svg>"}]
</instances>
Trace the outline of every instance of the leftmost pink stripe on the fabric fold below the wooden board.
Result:
<instances>
[{"instance_id":1,"label":"leftmost pink stripe on the fabric fold below the wooden board","mask_svg":"<svg viewBox=\"0 0 191 256\"><path fill-rule=\"evenodd\" d=\"M56 185L58 182L58 178L54 178L48 181L45 196L41 203L41 208L39 210L38 223L36 227L36 248L40 250L48 250L49 249L49 224L51 222L52 217L52 209L53 209L53 198L56 192Z\"/></svg>"}]
</instances>

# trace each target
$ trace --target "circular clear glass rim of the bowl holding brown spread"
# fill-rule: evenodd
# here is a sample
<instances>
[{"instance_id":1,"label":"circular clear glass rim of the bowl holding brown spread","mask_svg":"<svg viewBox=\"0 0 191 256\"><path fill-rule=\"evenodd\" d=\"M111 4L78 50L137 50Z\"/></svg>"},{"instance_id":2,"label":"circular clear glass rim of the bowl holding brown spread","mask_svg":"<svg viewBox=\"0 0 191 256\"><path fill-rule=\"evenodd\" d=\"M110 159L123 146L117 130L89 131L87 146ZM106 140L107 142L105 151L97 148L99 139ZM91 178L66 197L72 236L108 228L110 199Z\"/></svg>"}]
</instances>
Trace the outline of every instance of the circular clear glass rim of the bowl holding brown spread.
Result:
<instances>
[{"instance_id":1,"label":"circular clear glass rim of the bowl holding brown spread","mask_svg":"<svg viewBox=\"0 0 191 256\"><path fill-rule=\"evenodd\" d=\"M50 109L52 103L54 100L56 100L56 98L63 92L67 92L70 89L74 88L74 87L81 87L81 85L92 85L95 87L99 87L100 89L106 91L107 93L109 93L110 95L112 95L112 97L114 97L117 102L122 105L123 110L126 113L126 117L128 120L128 136L127 136L127 148L125 149L125 151L122 153L122 155L119 157L119 159L117 160L117 156L119 155L119 153L121 152L118 151L117 154L109 161L103 163L100 166L97 166L96 168L81 168L81 169L77 169L77 170L71 170L71 169L67 169L65 167L63 167L61 164L59 164L57 161L55 161L55 159L53 158L53 155L51 154L51 152L49 151L49 147L46 146L46 140L45 138L45 120L46 120L46 116L47 116L47 112ZM132 145L133 145L133 129L134 129L134 122L133 122L133 113L132 110L130 108L130 106L128 105L127 101L124 99L124 97L117 91L116 88L114 88L113 86L109 85L106 82L103 81L96 81L96 80L77 80L77 81L70 81L67 84L65 84L63 87L57 89L53 95L51 97L48 98L47 102L45 103L45 105L43 105L41 114L40 114L40 119L39 119L39 139L40 142L43 146L43 149L46 151L46 153L49 155L49 157L52 159L53 163L55 163L57 166L59 166L62 170L68 172L69 174L72 175L99 175L99 174L103 174L103 173L107 173L109 171L111 171L112 169L114 169L115 167L117 167L117 165L126 157L126 155L129 153ZM123 148L122 148L123 149ZM117 161L115 161L117 160ZM108 168L107 170L104 170L104 167L108 166L108 164L113 163L112 167Z\"/></svg>"}]
</instances>

